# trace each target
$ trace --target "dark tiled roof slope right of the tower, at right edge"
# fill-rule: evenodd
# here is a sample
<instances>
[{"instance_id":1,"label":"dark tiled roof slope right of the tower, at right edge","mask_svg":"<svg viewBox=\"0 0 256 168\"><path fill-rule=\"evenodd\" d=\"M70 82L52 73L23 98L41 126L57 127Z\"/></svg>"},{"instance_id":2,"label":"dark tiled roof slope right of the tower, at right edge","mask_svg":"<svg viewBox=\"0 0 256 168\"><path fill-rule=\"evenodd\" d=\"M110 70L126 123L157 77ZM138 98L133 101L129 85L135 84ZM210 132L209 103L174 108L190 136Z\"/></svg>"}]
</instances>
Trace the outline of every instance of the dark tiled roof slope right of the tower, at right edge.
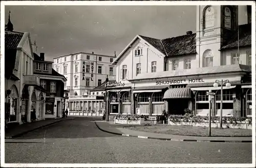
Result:
<instances>
[{"instance_id":1,"label":"dark tiled roof slope right of the tower, at right edge","mask_svg":"<svg viewBox=\"0 0 256 168\"><path fill-rule=\"evenodd\" d=\"M238 45L239 47L251 46L251 23L239 25L239 41L238 31L236 31L221 49L238 48Z\"/></svg>"}]
</instances>

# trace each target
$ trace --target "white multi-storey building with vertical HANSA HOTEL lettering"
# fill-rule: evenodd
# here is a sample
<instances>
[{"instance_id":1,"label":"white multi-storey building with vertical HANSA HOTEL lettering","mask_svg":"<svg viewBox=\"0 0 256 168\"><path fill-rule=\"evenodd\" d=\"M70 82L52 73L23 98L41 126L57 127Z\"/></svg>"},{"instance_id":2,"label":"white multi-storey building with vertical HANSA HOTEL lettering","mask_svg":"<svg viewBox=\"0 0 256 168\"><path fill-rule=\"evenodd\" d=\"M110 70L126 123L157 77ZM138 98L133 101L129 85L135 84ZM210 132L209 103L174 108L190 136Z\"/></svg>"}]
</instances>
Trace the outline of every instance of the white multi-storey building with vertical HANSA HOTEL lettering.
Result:
<instances>
[{"instance_id":1,"label":"white multi-storey building with vertical HANSA HOTEL lettering","mask_svg":"<svg viewBox=\"0 0 256 168\"><path fill-rule=\"evenodd\" d=\"M101 85L106 75L115 79L114 59L110 55L78 52L54 58L53 69L67 78L66 93L79 96Z\"/></svg>"}]
</instances>

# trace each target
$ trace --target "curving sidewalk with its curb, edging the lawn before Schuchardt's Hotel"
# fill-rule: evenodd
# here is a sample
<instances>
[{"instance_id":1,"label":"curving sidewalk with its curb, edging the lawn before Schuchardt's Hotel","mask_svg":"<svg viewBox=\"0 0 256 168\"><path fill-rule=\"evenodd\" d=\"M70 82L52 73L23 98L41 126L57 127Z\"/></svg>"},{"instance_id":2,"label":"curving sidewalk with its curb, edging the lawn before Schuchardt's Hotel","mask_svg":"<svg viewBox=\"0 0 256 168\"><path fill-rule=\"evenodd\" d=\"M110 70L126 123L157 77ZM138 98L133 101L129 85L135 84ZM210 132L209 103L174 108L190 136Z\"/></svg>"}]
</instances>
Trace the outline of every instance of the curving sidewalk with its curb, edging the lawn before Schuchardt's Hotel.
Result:
<instances>
[{"instance_id":1,"label":"curving sidewalk with its curb, edging the lawn before Schuchardt's Hotel","mask_svg":"<svg viewBox=\"0 0 256 168\"><path fill-rule=\"evenodd\" d=\"M108 122L95 121L97 127L105 132L114 133L122 136L132 136L148 139L160 139L164 141L190 141L190 142L219 142L219 143L251 143L252 137L224 137L224 136L183 136L169 135L153 132L135 131L125 128L130 125L113 124ZM134 126L134 125L132 125Z\"/></svg>"}]
</instances>

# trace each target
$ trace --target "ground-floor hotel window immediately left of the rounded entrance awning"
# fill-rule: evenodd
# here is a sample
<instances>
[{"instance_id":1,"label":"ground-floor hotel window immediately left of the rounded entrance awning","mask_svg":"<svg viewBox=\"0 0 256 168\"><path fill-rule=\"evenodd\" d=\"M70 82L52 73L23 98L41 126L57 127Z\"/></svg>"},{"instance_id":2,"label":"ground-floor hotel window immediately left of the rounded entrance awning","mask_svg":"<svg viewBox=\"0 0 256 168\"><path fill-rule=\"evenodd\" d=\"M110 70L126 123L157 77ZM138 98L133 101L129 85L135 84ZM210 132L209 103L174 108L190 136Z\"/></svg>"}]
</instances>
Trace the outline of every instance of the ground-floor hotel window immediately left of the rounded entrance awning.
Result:
<instances>
[{"instance_id":1,"label":"ground-floor hotel window immediately left of the rounded entrance awning","mask_svg":"<svg viewBox=\"0 0 256 168\"><path fill-rule=\"evenodd\" d=\"M153 93L152 96L152 114L161 115L164 110L163 94L161 92Z\"/></svg>"}]
</instances>

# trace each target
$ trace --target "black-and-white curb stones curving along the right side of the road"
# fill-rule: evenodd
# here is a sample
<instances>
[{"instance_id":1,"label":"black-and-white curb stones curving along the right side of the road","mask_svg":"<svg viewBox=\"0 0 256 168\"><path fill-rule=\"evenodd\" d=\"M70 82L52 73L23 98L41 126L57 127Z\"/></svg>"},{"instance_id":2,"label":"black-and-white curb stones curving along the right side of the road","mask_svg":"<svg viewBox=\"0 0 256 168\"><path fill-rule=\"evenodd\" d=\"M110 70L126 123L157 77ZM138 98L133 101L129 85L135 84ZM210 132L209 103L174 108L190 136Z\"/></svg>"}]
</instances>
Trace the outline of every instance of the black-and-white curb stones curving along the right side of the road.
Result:
<instances>
[{"instance_id":1,"label":"black-and-white curb stones curving along the right side of the road","mask_svg":"<svg viewBox=\"0 0 256 168\"><path fill-rule=\"evenodd\" d=\"M149 136L137 136L137 135L129 135L129 134L122 134L117 132L111 132L108 130L104 130L98 126L96 122L94 122L96 126L99 128L99 130L121 135L121 136L130 136L130 137L137 137L137 138L145 138L145 139L159 139L162 141L183 141L183 142L207 142L207 143L252 143L252 141L225 141L225 140L197 140L197 139L175 139L175 138L161 138L161 137L149 137Z\"/></svg>"}]
</instances>

